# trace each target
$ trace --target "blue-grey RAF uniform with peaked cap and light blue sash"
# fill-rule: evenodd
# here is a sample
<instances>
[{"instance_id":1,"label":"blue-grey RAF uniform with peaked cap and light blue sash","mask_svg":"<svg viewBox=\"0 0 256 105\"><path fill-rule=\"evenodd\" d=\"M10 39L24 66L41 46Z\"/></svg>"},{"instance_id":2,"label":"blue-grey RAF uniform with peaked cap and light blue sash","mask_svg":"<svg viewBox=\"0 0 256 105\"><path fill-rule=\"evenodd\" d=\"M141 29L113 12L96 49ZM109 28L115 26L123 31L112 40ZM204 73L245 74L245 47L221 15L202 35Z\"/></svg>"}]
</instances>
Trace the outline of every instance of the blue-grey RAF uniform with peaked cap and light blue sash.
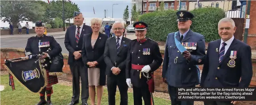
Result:
<instances>
[{"instance_id":1,"label":"blue-grey RAF uniform with peaked cap and light blue sash","mask_svg":"<svg viewBox=\"0 0 256 105\"><path fill-rule=\"evenodd\" d=\"M194 15L187 11L177 12L178 21L191 20ZM187 29L185 33L169 33L166 40L162 77L168 84L172 105L194 105L194 101L176 101L177 87L194 87L199 84L200 71L205 52L204 36ZM185 58L183 54L188 54Z\"/></svg>"}]
</instances>

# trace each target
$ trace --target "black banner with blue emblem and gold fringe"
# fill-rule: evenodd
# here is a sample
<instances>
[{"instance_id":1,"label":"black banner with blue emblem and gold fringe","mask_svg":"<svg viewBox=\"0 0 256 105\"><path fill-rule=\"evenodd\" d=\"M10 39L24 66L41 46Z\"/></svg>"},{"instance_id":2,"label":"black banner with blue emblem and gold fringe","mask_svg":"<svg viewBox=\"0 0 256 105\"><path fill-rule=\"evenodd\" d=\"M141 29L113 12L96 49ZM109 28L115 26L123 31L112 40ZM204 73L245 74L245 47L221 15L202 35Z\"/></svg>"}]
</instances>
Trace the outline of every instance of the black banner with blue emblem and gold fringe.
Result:
<instances>
[{"instance_id":1,"label":"black banner with blue emblem and gold fringe","mask_svg":"<svg viewBox=\"0 0 256 105\"><path fill-rule=\"evenodd\" d=\"M35 63L35 61L37 58L20 61L7 60L4 67L31 92L39 93L47 85L47 74L46 70L42 69L40 62Z\"/></svg>"}]
</instances>

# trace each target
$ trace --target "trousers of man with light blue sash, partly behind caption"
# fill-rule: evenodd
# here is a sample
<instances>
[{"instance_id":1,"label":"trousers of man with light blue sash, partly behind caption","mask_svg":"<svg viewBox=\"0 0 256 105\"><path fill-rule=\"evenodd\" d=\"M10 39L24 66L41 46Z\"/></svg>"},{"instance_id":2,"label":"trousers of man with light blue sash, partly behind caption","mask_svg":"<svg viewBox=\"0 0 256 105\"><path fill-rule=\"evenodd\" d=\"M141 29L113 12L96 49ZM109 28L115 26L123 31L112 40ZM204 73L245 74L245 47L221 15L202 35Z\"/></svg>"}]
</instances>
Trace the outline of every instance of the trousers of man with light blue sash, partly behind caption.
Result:
<instances>
[{"instance_id":1,"label":"trousers of man with light blue sash, partly behind caption","mask_svg":"<svg viewBox=\"0 0 256 105\"><path fill-rule=\"evenodd\" d=\"M168 85L169 95L171 97L171 105L194 105L194 101L177 101L176 87Z\"/></svg>"}]
</instances>

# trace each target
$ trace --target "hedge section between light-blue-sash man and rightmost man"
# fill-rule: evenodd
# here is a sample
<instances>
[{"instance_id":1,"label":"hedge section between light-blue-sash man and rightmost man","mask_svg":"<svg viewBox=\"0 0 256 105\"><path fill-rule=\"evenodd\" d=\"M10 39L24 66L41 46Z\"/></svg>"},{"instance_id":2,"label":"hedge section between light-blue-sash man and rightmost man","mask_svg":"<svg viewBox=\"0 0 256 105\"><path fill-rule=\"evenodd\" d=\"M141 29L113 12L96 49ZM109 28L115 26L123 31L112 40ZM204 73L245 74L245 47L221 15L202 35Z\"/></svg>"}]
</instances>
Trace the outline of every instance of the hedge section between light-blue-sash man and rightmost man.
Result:
<instances>
[{"instance_id":1,"label":"hedge section between light-blue-sash man and rightmost man","mask_svg":"<svg viewBox=\"0 0 256 105\"><path fill-rule=\"evenodd\" d=\"M194 14L191 30L202 34L206 42L220 39L218 33L219 20L226 17L221 8L200 8L190 11Z\"/></svg>"}]
</instances>

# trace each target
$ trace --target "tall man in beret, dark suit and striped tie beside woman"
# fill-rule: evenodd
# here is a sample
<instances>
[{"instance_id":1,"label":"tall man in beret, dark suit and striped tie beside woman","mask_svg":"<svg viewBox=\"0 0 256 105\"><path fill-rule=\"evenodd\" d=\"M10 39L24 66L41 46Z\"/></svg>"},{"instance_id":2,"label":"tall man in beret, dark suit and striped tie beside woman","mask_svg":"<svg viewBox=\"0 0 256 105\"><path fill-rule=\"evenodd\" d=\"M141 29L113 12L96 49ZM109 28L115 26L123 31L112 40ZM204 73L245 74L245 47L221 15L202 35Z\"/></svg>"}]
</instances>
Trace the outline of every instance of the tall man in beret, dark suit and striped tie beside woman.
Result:
<instances>
[{"instance_id":1,"label":"tall man in beret, dark suit and striped tie beside woman","mask_svg":"<svg viewBox=\"0 0 256 105\"><path fill-rule=\"evenodd\" d=\"M65 47L69 51L68 65L73 76L73 96L69 105L79 102L80 95L80 77L82 82L81 100L83 105L87 105L89 98L88 75L81 58L81 50L83 46L83 36L91 33L90 26L83 24L83 14L74 12L74 24L66 30Z\"/></svg>"}]
</instances>

